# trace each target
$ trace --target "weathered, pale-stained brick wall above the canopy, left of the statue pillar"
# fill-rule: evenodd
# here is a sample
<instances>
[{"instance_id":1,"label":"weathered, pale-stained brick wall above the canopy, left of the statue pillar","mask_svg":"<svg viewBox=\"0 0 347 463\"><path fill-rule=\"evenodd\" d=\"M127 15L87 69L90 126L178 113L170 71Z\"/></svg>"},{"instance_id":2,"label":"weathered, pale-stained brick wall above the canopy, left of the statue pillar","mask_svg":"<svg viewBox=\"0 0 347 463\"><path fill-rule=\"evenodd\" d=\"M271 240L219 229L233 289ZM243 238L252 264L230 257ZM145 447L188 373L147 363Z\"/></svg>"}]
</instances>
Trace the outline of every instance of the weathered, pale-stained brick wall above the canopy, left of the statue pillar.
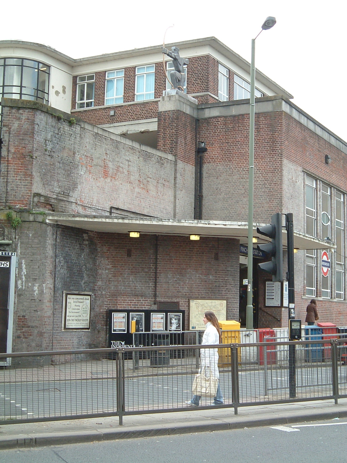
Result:
<instances>
[{"instance_id":1,"label":"weathered, pale-stained brick wall above the canopy, left of the statue pillar","mask_svg":"<svg viewBox=\"0 0 347 463\"><path fill-rule=\"evenodd\" d=\"M30 107L4 106L3 121L0 205L31 209L38 194L55 212L108 214L114 206L172 217L170 156Z\"/></svg>"}]
</instances>

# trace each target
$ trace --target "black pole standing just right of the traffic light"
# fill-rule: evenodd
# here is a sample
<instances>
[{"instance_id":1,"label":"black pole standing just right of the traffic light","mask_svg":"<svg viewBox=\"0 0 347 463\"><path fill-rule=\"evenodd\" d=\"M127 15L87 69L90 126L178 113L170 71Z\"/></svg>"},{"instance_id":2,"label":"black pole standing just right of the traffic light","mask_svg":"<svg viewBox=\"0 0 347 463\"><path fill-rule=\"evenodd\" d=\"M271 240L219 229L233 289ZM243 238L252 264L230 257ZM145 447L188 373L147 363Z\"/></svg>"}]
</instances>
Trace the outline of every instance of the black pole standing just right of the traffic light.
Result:
<instances>
[{"instance_id":1,"label":"black pole standing just right of the traffic light","mask_svg":"<svg viewBox=\"0 0 347 463\"><path fill-rule=\"evenodd\" d=\"M287 230L287 259L288 259L288 319L295 319L295 288L294 288L294 225L293 214L285 214L285 228ZM289 346L289 397L296 397L296 350L295 345Z\"/></svg>"}]
</instances>

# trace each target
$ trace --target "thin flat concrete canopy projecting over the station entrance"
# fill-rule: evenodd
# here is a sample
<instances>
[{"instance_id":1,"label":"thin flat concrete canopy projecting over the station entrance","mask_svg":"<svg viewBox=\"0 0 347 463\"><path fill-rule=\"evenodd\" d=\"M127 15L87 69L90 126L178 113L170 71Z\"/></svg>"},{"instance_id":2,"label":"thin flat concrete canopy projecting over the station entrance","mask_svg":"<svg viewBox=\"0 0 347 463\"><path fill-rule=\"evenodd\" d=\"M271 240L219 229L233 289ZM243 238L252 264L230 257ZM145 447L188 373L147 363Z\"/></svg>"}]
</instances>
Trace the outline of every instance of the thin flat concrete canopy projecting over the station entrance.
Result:
<instances>
[{"instance_id":1,"label":"thin flat concrete canopy projecting over the station entrance","mask_svg":"<svg viewBox=\"0 0 347 463\"><path fill-rule=\"evenodd\" d=\"M151 235L200 235L201 237L235 238L240 240L240 244L247 244L248 241L247 222L159 219L148 217L126 217L120 219L107 215L96 216L51 213L47 214L47 223L66 225L100 233L129 233L130 231L136 231ZM266 237L256 232L256 227L262 225L265 224L254 224L253 236L258 238L258 243L266 243L268 241ZM285 229L283 229L282 240L283 246L286 247L287 236ZM330 241L314 238L305 233L294 231L294 247L299 250L331 249L334 248L335 245Z\"/></svg>"}]
</instances>

